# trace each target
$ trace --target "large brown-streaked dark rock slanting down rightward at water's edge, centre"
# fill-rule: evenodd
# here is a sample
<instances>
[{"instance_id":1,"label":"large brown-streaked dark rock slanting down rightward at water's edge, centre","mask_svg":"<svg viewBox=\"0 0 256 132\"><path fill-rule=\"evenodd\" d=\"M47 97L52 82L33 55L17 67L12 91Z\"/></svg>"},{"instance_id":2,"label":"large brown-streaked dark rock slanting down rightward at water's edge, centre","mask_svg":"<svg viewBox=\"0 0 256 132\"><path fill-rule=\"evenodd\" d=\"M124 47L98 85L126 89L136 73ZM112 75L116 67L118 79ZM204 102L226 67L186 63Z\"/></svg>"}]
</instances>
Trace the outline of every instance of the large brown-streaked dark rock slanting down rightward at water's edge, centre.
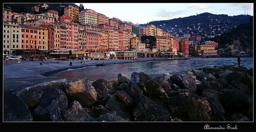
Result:
<instances>
[{"instance_id":1,"label":"large brown-streaked dark rock slanting down rightward at water's edge, centre","mask_svg":"<svg viewBox=\"0 0 256 132\"><path fill-rule=\"evenodd\" d=\"M164 89L158 84L158 82L147 74L140 72L140 86L151 97L168 98Z\"/></svg>"}]
</instances>

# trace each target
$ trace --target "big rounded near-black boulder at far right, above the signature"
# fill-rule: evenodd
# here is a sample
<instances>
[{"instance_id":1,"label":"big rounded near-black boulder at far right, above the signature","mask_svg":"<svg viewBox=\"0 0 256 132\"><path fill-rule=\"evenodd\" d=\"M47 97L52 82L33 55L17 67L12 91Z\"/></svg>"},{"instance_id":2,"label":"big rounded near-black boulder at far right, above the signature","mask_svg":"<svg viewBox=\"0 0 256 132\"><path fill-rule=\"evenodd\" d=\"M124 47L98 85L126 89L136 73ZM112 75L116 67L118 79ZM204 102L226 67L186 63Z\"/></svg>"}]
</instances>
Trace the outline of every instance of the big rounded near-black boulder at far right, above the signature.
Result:
<instances>
[{"instance_id":1,"label":"big rounded near-black boulder at far right, above the signature","mask_svg":"<svg viewBox=\"0 0 256 132\"><path fill-rule=\"evenodd\" d=\"M226 113L242 113L249 115L252 106L252 98L243 92L228 90L220 95L219 101Z\"/></svg>"}]
</instances>

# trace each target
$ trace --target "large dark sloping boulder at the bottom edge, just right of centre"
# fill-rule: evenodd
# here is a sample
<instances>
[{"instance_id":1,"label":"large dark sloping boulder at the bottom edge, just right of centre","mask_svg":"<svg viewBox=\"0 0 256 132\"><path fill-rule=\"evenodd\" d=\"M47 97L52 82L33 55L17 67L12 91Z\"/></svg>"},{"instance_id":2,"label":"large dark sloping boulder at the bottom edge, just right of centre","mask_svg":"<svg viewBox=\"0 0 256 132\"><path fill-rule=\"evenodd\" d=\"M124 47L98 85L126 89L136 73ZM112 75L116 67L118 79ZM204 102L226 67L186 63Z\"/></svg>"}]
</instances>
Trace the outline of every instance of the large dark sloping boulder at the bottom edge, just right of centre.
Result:
<instances>
[{"instance_id":1,"label":"large dark sloping boulder at the bottom edge, just right of centre","mask_svg":"<svg viewBox=\"0 0 256 132\"><path fill-rule=\"evenodd\" d=\"M169 122L172 117L167 109L147 96L138 94L132 107L132 120L136 122Z\"/></svg>"}]
</instances>

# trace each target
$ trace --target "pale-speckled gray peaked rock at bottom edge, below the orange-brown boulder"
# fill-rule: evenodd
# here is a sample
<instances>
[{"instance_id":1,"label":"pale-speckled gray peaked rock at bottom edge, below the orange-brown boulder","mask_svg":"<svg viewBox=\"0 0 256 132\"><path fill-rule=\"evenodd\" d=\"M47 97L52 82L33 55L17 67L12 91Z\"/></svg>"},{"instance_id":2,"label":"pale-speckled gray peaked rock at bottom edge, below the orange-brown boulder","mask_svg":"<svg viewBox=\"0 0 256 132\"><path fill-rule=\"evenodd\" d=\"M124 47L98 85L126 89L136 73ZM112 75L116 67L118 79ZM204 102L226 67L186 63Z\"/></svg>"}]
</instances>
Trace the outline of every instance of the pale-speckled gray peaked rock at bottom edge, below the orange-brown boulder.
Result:
<instances>
[{"instance_id":1,"label":"pale-speckled gray peaked rock at bottom edge, below the orange-brown boulder","mask_svg":"<svg viewBox=\"0 0 256 132\"><path fill-rule=\"evenodd\" d=\"M92 118L81 104L77 101L73 101L66 111L66 120L67 122L87 122Z\"/></svg>"}]
</instances>

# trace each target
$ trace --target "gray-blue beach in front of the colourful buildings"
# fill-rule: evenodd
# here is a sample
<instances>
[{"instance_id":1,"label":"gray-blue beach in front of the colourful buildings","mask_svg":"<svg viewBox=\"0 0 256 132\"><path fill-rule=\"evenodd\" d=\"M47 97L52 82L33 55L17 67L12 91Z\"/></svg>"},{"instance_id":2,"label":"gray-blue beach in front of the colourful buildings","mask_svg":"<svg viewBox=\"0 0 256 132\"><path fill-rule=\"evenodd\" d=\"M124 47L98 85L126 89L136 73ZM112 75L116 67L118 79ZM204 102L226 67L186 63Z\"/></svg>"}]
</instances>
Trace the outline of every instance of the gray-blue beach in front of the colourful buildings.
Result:
<instances>
[{"instance_id":1,"label":"gray-blue beach in front of the colourful buildings","mask_svg":"<svg viewBox=\"0 0 256 132\"><path fill-rule=\"evenodd\" d=\"M157 60L167 60L166 58L138 58L137 60L51 60L46 61L24 61L21 63L12 63L3 65L3 77L4 78L18 78L18 77L28 77L28 76L51 76L53 74L65 71L68 69L81 68L86 66L95 66L96 64L102 63L104 61L105 65L121 64L121 63L136 63L136 62L147 62L147 61L157 61ZM59 63L55 63L58 61ZM72 66L69 66L69 62L72 62ZM43 65L40 65L42 63Z\"/></svg>"}]
</instances>

